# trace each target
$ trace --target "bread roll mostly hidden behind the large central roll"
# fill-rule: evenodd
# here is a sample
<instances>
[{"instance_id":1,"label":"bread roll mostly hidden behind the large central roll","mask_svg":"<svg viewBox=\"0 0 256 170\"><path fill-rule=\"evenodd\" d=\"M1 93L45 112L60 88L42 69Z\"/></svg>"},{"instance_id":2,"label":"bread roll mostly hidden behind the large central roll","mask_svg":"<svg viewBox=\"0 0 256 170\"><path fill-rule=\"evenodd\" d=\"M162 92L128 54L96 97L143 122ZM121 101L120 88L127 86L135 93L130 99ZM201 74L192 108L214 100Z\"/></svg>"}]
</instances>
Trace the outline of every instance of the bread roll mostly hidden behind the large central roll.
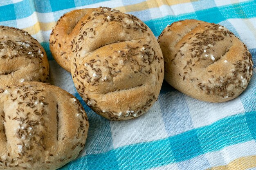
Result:
<instances>
[{"instance_id":1,"label":"bread roll mostly hidden behind the large central roll","mask_svg":"<svg viewBox=\"0 0 256 170\"><path fill-rule=\"evenodd\" d=\"M50 35L50 51L56 62L70 72L70 53L72 41L79 34L82 21L88 20L84 15L91 13L93 9L77 9L65 13L57 21Z\"/></svg>"}]
</instances>

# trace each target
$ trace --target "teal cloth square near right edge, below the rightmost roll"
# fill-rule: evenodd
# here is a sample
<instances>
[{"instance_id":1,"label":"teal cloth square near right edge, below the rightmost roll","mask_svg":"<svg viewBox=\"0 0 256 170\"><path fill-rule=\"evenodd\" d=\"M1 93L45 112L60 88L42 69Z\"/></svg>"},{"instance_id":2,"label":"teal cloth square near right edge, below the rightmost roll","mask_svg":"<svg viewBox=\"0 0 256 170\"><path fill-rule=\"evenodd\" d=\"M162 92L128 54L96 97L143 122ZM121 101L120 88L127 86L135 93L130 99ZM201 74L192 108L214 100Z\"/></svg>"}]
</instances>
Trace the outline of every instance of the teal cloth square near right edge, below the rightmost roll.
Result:
<instances>
[{"instance_id":1,"label":"teal cloth square near right edge, below the rightmost roll","mask_svg":"<svg viewBox=\"0 0 256 170\"><path fill-rule=\"evenodd\" d=\"M197 132L204 153L253 140L244 114L223 118Z\"/></svg>"}]
</instances>

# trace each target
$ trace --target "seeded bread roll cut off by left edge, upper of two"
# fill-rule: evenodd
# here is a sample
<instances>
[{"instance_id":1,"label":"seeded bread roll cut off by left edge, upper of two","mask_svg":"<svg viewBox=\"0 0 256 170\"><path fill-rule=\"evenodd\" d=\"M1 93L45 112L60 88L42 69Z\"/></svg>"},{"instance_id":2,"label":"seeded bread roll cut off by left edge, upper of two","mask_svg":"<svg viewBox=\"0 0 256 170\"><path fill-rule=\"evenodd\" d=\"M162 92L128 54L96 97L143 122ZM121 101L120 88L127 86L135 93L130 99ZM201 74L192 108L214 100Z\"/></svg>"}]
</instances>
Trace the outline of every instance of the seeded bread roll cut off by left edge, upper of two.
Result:
<instances>
[{"instance_id":1,"label":"seeded bread roll cut off by left edge, upper of two","mask_svg":"<svg viewBox=\"0 0 256 170\"><path fill-rule=\"evenodd\" d=\"M0 26L0 88L18 82L46 82L49 64L43 47L26 31Z\"/></svg>"}]
</instances>

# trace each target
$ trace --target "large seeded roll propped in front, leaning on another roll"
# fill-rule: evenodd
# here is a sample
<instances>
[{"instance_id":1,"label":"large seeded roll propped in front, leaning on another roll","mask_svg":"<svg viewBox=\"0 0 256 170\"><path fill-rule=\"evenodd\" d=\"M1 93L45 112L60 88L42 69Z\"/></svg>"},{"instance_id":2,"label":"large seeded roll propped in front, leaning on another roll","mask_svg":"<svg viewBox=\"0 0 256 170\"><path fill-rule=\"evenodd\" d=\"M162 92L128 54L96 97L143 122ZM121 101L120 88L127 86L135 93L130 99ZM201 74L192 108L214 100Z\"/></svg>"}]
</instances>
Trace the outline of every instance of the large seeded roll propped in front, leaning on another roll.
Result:
<instances>
[{"instance_id":1,"label":"large seeded roll propped in front, leaning on another roll","mask_svg":"<svg viewBox=\"0 0 256 170\"><path fill-rule=\"evenodd\" d=\"M99 7L86 13L70 40L71 73L85 102L99 115L126 120L145 113L164 79L162 52L137 17Z\"/></svg>"}]
</instances>

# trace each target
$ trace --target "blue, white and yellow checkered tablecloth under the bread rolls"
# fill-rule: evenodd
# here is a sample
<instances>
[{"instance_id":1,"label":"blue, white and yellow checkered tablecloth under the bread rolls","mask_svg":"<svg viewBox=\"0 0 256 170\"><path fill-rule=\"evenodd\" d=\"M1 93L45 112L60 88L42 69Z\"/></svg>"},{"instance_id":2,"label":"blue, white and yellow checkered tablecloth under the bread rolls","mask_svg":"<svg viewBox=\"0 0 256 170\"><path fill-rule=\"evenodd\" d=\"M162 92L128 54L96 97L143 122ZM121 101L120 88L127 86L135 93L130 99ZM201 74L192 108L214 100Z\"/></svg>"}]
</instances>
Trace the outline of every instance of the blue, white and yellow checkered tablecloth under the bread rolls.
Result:
<instances>
[{"instance_id":1,"label":"blue, white and yellow checkered tablecloth under the bread rolls","mask_svg":"<svg viewBox=\"0 0 256 170\"><path fill-rule=\"evenodd\" d=\"M256 170L255 65L246 91L221 104L188 97L164 81L158 101L136 119L108 121L86 106L48 40L63 13L99 6L136 15L156 37L177 20L221 24L245 42L256 63L254 0L0 0L0 25L24 29L43 45L49 83L78 97L88 114L85 148L61 170Z\"/></svg>"}]
</instances>

